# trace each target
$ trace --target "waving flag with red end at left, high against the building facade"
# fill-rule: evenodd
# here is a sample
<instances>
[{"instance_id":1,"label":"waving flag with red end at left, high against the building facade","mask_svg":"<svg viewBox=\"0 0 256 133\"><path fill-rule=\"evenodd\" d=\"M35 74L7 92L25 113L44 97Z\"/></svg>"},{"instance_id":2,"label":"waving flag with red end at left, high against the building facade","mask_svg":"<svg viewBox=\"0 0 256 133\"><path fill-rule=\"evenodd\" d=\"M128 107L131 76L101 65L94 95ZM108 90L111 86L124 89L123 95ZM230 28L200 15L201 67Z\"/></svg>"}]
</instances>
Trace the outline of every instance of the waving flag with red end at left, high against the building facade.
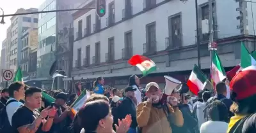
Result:
<instances>
[{"instance_id":1,"label":"waving flag with red end at left, high against the building facade","mask_svg":"<svg viewBox=\"0 0 256 133\"><path fill-rule=\"evenodd\" d=\"M153 71L156 71L156 64L152 60L148 59L143 55L133 55L131 59L128 60L131 66L136 66L140 69L143 76L146 76Z\"/></svg>"}]
</instances>

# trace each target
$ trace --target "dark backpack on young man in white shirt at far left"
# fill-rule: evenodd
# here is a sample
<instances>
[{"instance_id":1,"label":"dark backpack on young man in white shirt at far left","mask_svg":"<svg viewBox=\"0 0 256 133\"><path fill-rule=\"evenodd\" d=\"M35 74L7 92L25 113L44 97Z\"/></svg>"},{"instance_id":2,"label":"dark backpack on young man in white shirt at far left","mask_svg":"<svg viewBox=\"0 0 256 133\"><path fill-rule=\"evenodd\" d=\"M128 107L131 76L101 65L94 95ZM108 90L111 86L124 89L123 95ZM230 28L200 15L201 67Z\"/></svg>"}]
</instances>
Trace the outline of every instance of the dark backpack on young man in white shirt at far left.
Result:
<instances>
[{"instance_id":1,"label":"dark backpack on young man in white shirt at far left","mask_svg":"<svg viewBox=\"0 0 256 133\"><path fill-rule=\"evenodd\" d=\"M12 99L6 102L6 105L0 110L0 132L10 132L12 130L12 126L8 120L6 106L12 102L17 102L15 99Z\"/></svg>"}]
</instances>

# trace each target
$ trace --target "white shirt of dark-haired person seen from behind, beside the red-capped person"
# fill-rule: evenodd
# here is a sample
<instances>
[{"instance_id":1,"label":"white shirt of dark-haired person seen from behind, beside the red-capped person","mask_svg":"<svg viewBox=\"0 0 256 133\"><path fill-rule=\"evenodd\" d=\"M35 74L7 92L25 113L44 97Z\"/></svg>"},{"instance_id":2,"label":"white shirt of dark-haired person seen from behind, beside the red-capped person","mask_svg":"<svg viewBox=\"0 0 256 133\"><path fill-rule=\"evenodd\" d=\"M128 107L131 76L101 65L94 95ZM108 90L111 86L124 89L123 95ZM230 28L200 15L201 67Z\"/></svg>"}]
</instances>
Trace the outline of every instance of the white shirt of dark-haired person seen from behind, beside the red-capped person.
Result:
<instances>
[{"instance_id":1,"label":"white shirt of dark-haired person seen from behind, beside the red-capped person","mask_svg":"<svg viewBox=\"0 0 256 133\"><path fill-rule=\"evenodd\" d=\"M201 125L200 133L226 133L228 123L219 121L207 121Z\"/></svg>"}]
</instances>

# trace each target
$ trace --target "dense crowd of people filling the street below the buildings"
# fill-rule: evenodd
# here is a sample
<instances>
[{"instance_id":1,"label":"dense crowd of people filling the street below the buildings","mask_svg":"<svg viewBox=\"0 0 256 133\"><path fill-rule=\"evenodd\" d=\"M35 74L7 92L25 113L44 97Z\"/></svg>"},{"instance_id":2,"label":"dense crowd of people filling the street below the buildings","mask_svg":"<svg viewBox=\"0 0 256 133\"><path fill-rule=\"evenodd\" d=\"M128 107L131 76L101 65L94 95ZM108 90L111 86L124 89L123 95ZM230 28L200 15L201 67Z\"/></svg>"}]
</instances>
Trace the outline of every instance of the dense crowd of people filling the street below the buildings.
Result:
<instances>
[{"instance_id":1,"label":"dense crowd of people filling the street below the buildings","mask_svg":"<svg viewBox=\"0 0 256 133\"><path fill-rule=\"evenodd\" d=\"M156 82L143 88L136 75L129 85L104 88L104 78L93 83L90 97L74 114L70 106L83 91L47 91L13 82L1 90L0 133L251 133L256 132L256 70L238 73L232 81L220 81L214 90L197 95L182 85L162 97ZM230 87L230 97L227 97ZM55 101L47 102L45 92Z\"/></svg>"}]
</instances>

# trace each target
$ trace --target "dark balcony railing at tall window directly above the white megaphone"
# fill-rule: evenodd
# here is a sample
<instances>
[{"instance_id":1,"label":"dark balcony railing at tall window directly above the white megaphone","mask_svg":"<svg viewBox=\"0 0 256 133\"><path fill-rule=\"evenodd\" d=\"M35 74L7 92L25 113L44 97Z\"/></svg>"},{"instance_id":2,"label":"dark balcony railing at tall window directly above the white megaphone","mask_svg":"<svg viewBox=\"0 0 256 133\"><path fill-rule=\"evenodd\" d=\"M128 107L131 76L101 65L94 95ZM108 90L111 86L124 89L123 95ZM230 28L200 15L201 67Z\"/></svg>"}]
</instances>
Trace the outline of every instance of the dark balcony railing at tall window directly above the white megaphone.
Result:
<instances>
[{"instance_id":1,"label":"dark balcony railing at tall window directly above the white megaphone","mask_svg":"<svg viewBox=\"0 0 256 133\"><path fill-rule=\"evenodd\" d=\"M182 35L180 35L182 38ZM174 50L182 47L182 39L173 39L172 36L165 38L165 48L168 50Z\"/></svg>"}]
</instances>

